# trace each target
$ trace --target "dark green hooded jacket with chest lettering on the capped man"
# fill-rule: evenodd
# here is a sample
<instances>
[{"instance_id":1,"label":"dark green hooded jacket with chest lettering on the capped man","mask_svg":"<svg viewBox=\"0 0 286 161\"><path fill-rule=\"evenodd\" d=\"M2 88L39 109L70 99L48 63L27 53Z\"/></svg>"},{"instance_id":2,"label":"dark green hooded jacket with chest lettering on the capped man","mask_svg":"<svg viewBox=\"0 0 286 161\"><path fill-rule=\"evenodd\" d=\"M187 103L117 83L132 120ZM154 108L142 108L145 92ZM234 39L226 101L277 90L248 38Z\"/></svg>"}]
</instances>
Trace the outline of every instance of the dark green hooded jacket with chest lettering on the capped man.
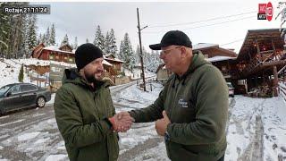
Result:
<instances>
[{"instance_id":1,"label":"dark green hooded jacket with chest lettering on the capped man","mask_svg":"<svg viewBox=\"0 0 286 161\"><path fill-rule=\"evenodd\" d=\"M222 73L194 54L189 70L181 78L167 81L153 105L130 112L137 123L163 117L171 120L166 140L172 160L212 161L223 157L226 149L225 126L228 114L228 88Z\"/></svg>"}]
</instances>

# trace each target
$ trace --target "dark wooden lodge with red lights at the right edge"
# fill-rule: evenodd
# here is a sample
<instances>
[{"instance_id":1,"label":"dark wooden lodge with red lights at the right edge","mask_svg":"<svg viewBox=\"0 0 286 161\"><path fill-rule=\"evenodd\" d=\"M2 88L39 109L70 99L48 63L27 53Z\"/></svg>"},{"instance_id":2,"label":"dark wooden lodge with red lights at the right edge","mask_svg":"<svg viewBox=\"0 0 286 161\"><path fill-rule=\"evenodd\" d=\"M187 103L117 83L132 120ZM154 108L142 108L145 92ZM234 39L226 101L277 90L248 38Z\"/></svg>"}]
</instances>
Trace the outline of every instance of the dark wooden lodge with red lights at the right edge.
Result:
<instances>
[{"instance_id":1,"label":"dark wooden lodge with red lights at the right edge","mask_svg":"<svg viewBox=\"0 0 286 161\"><path fill-rule=\"evenodd\" d=\"M277 96L278 80L285 76L284 41L279 29L248 30L237 58L237 71L231 75L234 87L246 90L269 87Z\"/></svg>"}]
</instances>

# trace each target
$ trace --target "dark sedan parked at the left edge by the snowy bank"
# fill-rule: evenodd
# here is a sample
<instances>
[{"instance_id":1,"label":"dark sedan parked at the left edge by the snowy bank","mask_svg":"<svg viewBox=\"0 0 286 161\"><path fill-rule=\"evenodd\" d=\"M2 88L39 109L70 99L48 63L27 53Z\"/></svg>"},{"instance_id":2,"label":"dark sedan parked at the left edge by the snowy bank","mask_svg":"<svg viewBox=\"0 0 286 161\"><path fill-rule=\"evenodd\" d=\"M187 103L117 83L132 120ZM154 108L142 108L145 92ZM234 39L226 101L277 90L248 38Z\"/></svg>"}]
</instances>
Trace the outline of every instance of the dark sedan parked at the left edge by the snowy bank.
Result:
<instances>
[{"instance_id":1,"label":"dark sedan parked at the left edge by the snowy bank","mask_svg":"<svg viewBox=\"0 0 286 161\"><path fill-rule=\"evenodd\" d=\"M0 114L31 106L44 107L51 92L30 83L8 84L0 89Z\"/></svg>"}]
</instances>

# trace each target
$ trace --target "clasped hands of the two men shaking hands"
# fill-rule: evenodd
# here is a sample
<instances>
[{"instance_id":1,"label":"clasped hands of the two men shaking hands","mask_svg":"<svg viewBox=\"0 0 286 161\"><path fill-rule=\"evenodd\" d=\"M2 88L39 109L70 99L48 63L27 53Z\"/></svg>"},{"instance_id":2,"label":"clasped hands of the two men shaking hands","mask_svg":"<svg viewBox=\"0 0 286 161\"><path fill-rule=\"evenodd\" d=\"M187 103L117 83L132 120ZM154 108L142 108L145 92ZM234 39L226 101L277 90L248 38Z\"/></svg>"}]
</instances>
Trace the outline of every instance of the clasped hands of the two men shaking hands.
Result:
<instances>
[{"instance_id":1,"label":"clasped hands of the two men shaking hands","mask_svg":"<svg viewBox=\"0 0 286 161\"><path fill-rule=\"evenodd\" d=\"M108 118L108 120L113 124L113 130L117 132L130 130L132 123L135 122L134 118L132 118L128 112L120 112Z\"/></svg>"}]
</instances>

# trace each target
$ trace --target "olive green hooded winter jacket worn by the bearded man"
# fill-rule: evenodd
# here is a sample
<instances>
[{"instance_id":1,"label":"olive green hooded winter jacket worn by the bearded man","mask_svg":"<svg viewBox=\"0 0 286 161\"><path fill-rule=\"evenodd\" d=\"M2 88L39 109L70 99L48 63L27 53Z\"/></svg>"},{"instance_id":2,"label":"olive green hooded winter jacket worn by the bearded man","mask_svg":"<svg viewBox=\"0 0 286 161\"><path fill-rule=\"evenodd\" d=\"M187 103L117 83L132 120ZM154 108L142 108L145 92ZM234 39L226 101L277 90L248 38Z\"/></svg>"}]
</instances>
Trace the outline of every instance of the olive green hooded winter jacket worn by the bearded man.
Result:
<instances>
[{"instance_id":1,"label":"olive green hooded winter jacket worn by the bearded man","mask_svg":"<svg viewBox=\"0 0 286 161\"><path fill-rule=\"evenodd\" d=\"M107 82L96 90L78 72L66 70L55 95L55 119L71 161L114 161L119 154L118 135L106 118L115 114Z\"/></svg>"}]
</instances>

